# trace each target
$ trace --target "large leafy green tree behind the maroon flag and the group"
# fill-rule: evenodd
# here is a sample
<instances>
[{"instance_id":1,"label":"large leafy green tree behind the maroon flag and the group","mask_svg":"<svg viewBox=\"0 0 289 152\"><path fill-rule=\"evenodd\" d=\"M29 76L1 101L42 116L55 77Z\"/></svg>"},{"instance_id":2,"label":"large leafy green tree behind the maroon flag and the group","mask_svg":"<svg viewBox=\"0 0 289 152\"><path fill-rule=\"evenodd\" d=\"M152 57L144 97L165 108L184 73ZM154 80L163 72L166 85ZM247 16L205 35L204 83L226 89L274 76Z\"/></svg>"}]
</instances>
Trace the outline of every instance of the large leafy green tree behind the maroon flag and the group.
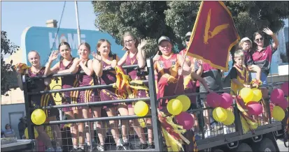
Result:
<instances>
[{"instance_id":1,"label":"large leafy green tree behind the maroon flag and the group","mask_svg":"<svg viewBox=\"0 0 289 152\"><path fill-rule=\"evenodd\" d=\"M201 1L93 1L95 26L111 33L121 43L124 31L148 38L148 56L157 49L157 39L169 36L176 50L183 49L185 33L192 31ZM269 27L277 32L289 17L288 1L225 1L241 38ZM267 37L267 36L266 36ZM269 43L267 37L265 44Z\"/></svg>"}]
</instances>

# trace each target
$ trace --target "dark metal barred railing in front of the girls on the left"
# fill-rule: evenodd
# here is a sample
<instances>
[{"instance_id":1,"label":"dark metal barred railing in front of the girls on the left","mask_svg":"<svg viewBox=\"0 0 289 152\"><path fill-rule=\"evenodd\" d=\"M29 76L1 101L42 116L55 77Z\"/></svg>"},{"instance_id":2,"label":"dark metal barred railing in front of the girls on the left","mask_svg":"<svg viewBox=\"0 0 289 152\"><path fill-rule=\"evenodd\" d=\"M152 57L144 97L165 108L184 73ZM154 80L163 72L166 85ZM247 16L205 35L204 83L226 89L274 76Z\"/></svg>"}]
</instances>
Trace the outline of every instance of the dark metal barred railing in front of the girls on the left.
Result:
<instances>
[{"instance_id":1,"label":"dark metal barred railing in front of the girls on the left","mask_svg":"<svg viewBox=\"0 0 289 152\"><path fill-rule=\"evenodd\" d=\"M138 69L138 66L123 66L123 69ZM154 79L154 70L153 70L153 59L146 60L146 68L148 70L148 79ZM107 69L113 70L113 69ZM105 71L105 70L104 70ZM70 73L62 73L62 74L55 74L55 75L48 75L43 77L28 77L27 75L22 76L22 83L23 83L23 91L24 91L24 100L25 100L25 109L27 118L27 130L29 139L34 139L34 126L31 122L31 113L33 112L34 107L31 106L31 96L40 95L45 93L59 93L59 92L66 92L66 91L81 91L86 89L107 89L111 88L113 84L110 85L94 85L94 86L83 86L83 87L75 87L70 89L55 89L50 91L39 91L39 92L30 92L29 85L33 83L34 79L45 79L50 77L65 77L69 75L83 75L83 72L70 74ZM80 123L80 122L92 122L92 121L110 121L110 120L125 120L125 119L141 119L141 118L151 118L152 119L152 126L153 126L153 137L154 137L154 144L155 144L155 151L162 151L162 135L159 133L159 122L157 121L157 96L155 93L155 81L148 81L144 80L143 83L148 83L149 87L149 98L134 98L134 99L124 99L124 100L108 100L108 101L97 101L97 102L87 102L87 103L77 103L77 104L70 104L70 105L53 105L53 106L45 106L39 107L37 109L55 109L55 108L64 108L64 107L79 107L79 106L91 106L91 105L104 105L105 104L113 104L113 103L120 103L120 102L134 102L138 100L148 101L150 100L150 114L146 116L109 116L109 117L100 117L100 118L90 118L90 119L74 119L74 120L60 120L60 121L50 121L48 123L43 123L41 126L48 126L48 125L55 125L55 124L63 124L63 123ZM89 130L90 130L90 126ZM90 138L92 138L90 136ZM92 141L90 139L90 141ZM139 150L138 150L139 151Z\"/></svg>"}]
</instances>

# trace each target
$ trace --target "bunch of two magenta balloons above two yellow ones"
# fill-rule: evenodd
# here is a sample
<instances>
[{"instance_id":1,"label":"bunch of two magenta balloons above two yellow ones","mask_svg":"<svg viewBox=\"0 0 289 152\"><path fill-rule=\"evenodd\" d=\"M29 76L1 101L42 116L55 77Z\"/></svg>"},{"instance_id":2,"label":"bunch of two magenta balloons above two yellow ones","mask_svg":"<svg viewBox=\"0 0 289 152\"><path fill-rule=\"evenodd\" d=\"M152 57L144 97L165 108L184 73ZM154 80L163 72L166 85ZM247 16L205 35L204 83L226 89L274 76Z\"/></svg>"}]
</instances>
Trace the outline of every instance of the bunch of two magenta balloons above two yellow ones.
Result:
<instances>
[{"instance_id":1,"label":"bunch of two magenta balloons above two yellow ones","mask_svg":"<svg viewBox=\"0 0 289 152\"><path fill-rule=\"evenodd\" d=\"M233 103L233 98L229 93L223 93L221 95L218 93L209 93L208 96L206 96L206 103L209 107L215 108L213 109L213 119L226 126L234 123L234 114L228 109Z\"/></svg>"}]
</instances>

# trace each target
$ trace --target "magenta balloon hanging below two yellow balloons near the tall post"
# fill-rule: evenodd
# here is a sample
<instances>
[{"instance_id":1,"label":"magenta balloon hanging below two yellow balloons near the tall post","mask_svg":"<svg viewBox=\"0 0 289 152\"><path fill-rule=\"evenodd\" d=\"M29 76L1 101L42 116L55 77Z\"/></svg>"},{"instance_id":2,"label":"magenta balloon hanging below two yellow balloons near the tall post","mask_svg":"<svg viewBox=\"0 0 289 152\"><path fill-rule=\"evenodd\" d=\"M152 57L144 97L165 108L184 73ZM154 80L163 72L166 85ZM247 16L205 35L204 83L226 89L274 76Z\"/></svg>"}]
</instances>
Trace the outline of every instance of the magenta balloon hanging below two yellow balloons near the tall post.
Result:
<instances>
[{"instance_id":1,"label":"magenta balloon hanging below two yellow balloons near the tall post","mask_svg":"<svg viewBox=\"0 0 289 152\"><path fill-rule=\"evenodd\" d=\"M194 118L188 112L181 112L175 116L176 123L183 126L185 130L190 130L194 126Z\"/></svg>"}]
</instances>

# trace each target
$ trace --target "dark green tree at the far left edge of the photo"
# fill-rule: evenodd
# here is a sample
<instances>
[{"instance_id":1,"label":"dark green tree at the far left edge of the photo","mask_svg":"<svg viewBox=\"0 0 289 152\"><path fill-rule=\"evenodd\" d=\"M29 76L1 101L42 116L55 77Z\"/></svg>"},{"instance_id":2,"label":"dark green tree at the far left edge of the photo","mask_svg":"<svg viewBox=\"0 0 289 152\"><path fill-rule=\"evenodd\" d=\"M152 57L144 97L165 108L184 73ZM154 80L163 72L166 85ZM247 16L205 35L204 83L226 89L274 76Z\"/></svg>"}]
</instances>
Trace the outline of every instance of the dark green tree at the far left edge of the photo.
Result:
<instances>
[{"instance_id":1,"label":"dark green tree at the far left edge of the photo","mask_svg":"<svg viewBox=\"0 0 289 152\"><path fill-rule=\"evenodd\" d=\"M4 61L4 55L12 55L19 47L10 42L7 38L6 31L1 31L1 95L6 95L7 91L10 91L10 84L8 83L11 75L11 66L13 60L10 63ZM7 95L6 95L7 96Z\"/></svg>"}]
</instances>

